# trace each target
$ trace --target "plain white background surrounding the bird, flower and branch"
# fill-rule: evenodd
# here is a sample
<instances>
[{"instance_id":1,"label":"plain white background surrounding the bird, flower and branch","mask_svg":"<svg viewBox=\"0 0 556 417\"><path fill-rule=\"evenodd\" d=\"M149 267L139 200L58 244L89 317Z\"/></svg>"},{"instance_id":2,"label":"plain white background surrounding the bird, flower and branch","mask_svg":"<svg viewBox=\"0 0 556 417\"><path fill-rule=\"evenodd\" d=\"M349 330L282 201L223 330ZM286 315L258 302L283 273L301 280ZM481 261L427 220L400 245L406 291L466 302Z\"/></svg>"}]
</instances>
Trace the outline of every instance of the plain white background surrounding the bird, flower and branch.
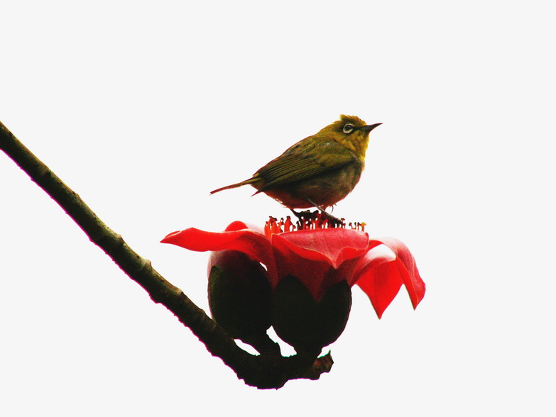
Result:
<instances>
[{"instance_id":1,"label":"plain white background surrounding the bird, flower and branch","mask_svg":"<svg viewBox=\"0 0 556 417\"><path fill-rule=\"evenodd\" d=\"M427 294L355 289L332 372L259 391L0 155L0 415L554 416L550 4L2 1L0 120L197 305L207 254L160 239L287 215L209 191L340 113L383 126L334 213Z\"/></svg>"}]
</instances>

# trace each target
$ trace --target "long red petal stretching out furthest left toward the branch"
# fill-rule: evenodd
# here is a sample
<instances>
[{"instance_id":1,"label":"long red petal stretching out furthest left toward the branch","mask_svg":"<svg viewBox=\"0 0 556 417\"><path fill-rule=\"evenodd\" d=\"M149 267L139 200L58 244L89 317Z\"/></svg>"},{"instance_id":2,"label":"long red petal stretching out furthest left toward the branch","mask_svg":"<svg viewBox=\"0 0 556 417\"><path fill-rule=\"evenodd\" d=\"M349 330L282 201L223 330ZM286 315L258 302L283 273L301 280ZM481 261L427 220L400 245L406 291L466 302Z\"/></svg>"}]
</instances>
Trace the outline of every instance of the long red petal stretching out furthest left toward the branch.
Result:
<instances>
[{"instance_id":1,"label":"long red petal stretching out furthest left toward the branch","mask_svg":"<svg viewBox=\"0 0 556 417\"><path fill-rule=\"evenodd\" d=\"M231 223L228 228L239 228L241 222ZM244 226L246 226L244 224ZM189 250L205 252L207 250L237 250L251 259L262 262L268 269L271 279L276 281L276 262L273 257L271 242L265 235L254 230L241 229L221 233L206 232L197 228L188 228L170 233L162 243L171 243Z\"/></svg>"}]
</instances>

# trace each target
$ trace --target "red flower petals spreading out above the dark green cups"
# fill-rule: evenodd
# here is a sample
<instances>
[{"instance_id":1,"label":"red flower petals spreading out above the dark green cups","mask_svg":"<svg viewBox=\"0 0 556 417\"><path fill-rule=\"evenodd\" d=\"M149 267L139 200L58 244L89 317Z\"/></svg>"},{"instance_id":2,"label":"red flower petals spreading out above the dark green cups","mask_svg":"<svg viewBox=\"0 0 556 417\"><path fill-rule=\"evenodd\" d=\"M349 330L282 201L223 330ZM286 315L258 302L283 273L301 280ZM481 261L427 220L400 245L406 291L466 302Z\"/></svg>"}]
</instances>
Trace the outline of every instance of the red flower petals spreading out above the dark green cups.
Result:
<instances>
[{"instance_id":1,"label":"red flower petals spreading out above the dark green cups","mask_svg":"<svg viewBox=\"0 0 556 417\"><path fill-rule=\"evenodd\" d=\"M425 283L408 248L394 238L369 239L359 230L317 228L266 235L235 221L221 233L188 228L170 233L162 242L197 251L243 252L266 266L273 288L280 279L293 276L315 301L342 280L349 287L357 284L369 296L378 318L402 284L413 308L425 296Z\"/></svg>"}]
</instances>

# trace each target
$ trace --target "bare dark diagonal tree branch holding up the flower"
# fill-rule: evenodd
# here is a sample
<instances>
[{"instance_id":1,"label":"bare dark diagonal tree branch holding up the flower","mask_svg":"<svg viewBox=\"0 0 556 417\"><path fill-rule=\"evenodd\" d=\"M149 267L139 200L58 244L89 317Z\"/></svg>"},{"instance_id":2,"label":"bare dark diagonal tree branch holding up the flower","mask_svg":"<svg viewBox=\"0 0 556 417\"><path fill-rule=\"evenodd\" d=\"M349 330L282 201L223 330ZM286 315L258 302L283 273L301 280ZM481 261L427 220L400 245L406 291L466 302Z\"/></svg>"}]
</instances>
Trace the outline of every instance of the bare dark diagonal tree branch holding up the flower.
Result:
<instances>
[{"instance_id":1,"label":"bare dark diagonal tree branch holding up the flower","mask_svg":"<svg viewBox=\"0 0 556 417\"><path fill-rule=\"evenodd\" d=\"M155 303L163 304L174 313L205 343L212 355L221 358L246 384L277 389L289 379L318 379L320 374L329 372L333 363L329 353L315 361L310 357L282 357L272 352L256 356L242 350L205 311L158 274L151 262L133 251L121 235L104 224L75 191L38 160L1 122L0 149L64 209L95 245L141 285Z\"/></svg>"}]
</instances>

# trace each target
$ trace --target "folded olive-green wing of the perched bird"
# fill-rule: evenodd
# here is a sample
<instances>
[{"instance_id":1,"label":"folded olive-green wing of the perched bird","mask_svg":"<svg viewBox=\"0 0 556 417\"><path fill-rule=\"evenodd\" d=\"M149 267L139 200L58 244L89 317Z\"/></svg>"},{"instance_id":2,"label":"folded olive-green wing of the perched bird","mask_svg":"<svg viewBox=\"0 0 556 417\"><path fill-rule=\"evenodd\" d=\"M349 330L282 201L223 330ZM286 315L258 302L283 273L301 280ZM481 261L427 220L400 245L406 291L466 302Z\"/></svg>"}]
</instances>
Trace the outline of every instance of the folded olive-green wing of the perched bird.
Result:
<instances>
[{"instance_id":1,"label":"folded olive-green wing of the perched bird","mask_svg":"<svg viewBox=\"0 0 556 417\"><path fill-rule=\"evenodd\" d=\"M354 152L336 142L315 143L308 149L298 143L258 170L258 177L264 181L258 191L315 177L355 159Z\"/></svg>"}]
</instances>

